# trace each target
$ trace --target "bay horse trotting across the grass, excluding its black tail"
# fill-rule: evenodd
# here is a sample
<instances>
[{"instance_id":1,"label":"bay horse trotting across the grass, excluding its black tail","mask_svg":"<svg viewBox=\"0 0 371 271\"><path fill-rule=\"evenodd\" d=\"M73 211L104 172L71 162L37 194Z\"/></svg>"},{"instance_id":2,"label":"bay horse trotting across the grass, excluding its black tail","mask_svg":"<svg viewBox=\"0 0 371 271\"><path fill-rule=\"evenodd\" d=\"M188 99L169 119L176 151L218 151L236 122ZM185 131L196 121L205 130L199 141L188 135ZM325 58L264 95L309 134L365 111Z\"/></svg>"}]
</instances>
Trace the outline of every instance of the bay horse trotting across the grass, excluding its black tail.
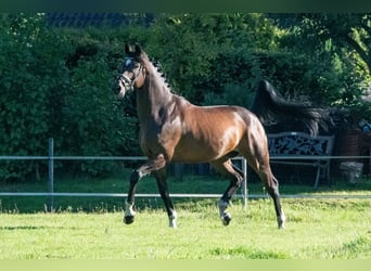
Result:
<instances>
[{"instance_id":1,"label":"bay horse trotting across the grass, excluding its black tail","mask_svg":"<svg viewBox=\"0 0 371 271\"><path fill-rule=\"evenodd\" d=\"M166 166L179 162L209 163L216 171L229 178L230 184L218 202L222 224L228 225L231 215L227 207L243 181L243 172L232 164L231 158L242 155L273 199L278 228L284 228L279 182L269 165L267 136L255 114L240 106L193 105L171 92L162 74L138 44L126 44L125 52L127 57L118 79L119 95L136 90L139 143L148 162L130 176L124 222L133 222L138 181L152 173L167 210L169 227L177 227L177 212L167 188Z\"/></svg>"}]
</instances>

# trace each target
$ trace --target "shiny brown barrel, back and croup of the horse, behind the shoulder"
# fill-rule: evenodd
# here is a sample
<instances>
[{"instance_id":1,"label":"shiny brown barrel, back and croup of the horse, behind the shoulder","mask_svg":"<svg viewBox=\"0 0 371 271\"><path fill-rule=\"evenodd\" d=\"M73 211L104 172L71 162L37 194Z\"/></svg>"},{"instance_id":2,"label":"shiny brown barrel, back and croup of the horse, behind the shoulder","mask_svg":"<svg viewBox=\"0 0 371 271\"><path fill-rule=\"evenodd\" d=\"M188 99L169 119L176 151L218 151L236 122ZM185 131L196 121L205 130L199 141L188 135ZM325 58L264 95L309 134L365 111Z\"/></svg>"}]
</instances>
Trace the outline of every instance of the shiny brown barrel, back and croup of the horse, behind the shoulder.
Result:
<instances>
[{"instance_id":1,"label":"shiny brown barrel, back and croup of the horse, behind the shoulder","mask_svg":"<svg viewBox=\"0 0 371 271\"><path fill-rule=\"evenodd\" d=\"M180 111L181 137L175 146L175 160L193 163L227 157L247 143L251 131L265 136L259 120L244 107L186 104Z\"/></svg>"}]
</instances>

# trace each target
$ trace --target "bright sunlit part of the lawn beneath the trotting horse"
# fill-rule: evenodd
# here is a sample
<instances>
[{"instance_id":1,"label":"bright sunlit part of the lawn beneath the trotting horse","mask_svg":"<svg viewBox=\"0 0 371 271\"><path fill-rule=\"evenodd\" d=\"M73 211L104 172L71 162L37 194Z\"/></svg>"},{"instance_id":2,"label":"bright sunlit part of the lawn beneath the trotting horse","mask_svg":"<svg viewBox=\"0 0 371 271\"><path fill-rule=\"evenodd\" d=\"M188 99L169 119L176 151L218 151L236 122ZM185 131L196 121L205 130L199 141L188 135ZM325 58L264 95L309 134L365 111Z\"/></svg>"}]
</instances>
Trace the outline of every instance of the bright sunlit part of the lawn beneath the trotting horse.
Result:
<instances>
[{"instance_id":1,"label":"bright sunlit part of the lawn beneath the trotting horse","mask_svg":"<svg viewBox=\"0 0 371 271\"><path fill-rule=\"evenodd\" d=\"M178 229L164 211L142 209L126 225L120 211L1 214L2 259L366 259L369 199L283 199L278 230L270 199L235 202L221 225L215 201L181 204Z\"/></svg>"}]
</instances>

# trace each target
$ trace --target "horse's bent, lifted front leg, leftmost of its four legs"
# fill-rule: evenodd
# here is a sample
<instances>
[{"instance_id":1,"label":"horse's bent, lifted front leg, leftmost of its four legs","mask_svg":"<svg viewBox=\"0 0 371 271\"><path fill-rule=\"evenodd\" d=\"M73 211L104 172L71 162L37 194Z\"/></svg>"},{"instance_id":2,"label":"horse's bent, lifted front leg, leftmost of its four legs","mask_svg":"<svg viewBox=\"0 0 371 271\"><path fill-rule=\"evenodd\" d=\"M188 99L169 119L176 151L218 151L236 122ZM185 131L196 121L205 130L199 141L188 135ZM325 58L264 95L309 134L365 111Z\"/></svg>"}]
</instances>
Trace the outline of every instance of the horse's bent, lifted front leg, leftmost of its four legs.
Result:
<instances>
[{"instance_id":1,"label":"horse's bent, lifted front leg, leftmost of its four legs","mask_svg":"<svg viewBox=\"0 0 371 271\"><path fill-rule=\"evenodd\" d=\"M150 175L154 170L158 170L165 166L165 159L163 156L158 156L156 159L151 159L149 163L141 166L139 169L132 171L130 176L130 186L125 205L124 222L131 224L135 221L135 194L138 185L138 181L144 176Z\"/></svg>"}]
</instances>

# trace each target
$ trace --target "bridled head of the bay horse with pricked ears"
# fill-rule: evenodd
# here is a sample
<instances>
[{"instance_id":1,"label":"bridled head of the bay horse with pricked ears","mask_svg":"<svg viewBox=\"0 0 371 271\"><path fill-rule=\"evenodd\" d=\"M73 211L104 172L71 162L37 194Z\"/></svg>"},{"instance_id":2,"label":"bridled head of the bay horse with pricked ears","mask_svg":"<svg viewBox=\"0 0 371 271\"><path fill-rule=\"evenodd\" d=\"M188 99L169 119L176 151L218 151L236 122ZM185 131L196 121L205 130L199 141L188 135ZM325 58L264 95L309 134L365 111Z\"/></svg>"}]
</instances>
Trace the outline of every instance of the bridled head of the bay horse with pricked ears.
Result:
<instances>
[{"instance_id":1,"label":"bridled head of the bay horse with pricked ears","mask_svg":"<svg viewBox=\"0 0 371 271\"><path fill-rule=\"evenodd\" d=\"M125 44L126 57L118 78L119 95L124 96L127 91L136 87L140 89L144 85L145 73L141 61L142 50L138 44Z\"/></svg>"}]
</instances>

